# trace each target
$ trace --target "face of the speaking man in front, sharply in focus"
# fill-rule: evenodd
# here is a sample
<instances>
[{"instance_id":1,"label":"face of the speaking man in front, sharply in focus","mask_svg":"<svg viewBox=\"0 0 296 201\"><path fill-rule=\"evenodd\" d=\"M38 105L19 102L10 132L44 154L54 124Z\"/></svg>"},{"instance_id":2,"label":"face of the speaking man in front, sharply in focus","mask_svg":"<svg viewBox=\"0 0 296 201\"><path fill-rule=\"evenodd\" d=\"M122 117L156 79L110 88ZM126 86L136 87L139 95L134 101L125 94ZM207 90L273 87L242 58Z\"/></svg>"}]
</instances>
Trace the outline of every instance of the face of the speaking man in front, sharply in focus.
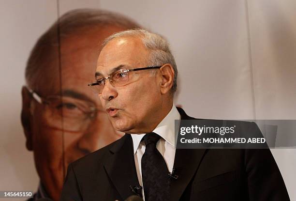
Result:
<instances>
[{"instance_id":1,"label":"face of the speaking man in front, sharply in focus","mask_svg":"<svg viewBox=\"0 0 296 201\"><path fill-rule=\"evenodd\" d=\"M108 77L118 66L133 69L147 66L149 51L141 39L125 37L111 40L101 51L97 78ZM114 87L106 80L99 97L115 129L127 133L150 132L159 122L163 105L159 70L133 71L125 86Z\"/></svg>"}]
</instances>

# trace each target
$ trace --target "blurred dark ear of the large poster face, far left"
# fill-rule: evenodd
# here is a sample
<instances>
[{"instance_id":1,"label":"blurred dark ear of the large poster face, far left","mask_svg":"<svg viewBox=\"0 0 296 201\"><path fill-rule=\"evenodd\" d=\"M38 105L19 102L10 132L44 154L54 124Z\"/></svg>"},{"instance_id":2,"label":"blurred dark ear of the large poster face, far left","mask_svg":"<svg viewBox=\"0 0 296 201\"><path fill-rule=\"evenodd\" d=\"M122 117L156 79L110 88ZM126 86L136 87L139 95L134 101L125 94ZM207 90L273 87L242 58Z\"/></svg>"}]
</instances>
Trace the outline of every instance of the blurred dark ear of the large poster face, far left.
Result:
<instances>
[{"instance_id":1,"label":"blurred dark ear of the large poster face, far left","mask_svg":"<svg viewBox=\"0 0 296 201\"><path fill-rule=\"evenodd\" d=\"M27 87L22 87L22 112L21 112L21 122L23 125L24 133L26 136L26 147L29 151L33 150L32 147L32 132L31 132L31 94Z\"/></svg>"}]
</instances>

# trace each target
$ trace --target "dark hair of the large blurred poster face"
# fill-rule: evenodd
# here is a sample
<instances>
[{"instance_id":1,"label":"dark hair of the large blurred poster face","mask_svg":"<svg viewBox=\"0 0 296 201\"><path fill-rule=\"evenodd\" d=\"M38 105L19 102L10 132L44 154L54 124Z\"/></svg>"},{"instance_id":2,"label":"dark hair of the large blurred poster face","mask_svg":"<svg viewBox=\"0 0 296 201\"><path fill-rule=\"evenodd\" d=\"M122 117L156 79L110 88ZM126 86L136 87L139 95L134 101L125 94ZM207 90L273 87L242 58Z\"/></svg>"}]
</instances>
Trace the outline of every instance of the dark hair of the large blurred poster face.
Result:
<instances>
[{"instance_id":1,"label":"dark hair of the large blurred poster face","mask_svg":"<svg viewBox=\"0 0 296 201\"><path fill-rule=\"evenodd\" d=\"M141 28L139 24L124 15L101 9L76 9L60 16L38 39L30 52L25 71L27 84L30 86L42 79L44 58L53 47L59 47L59 42L63 38L75 34L75 31L82 28L108 25L119 26L127 30Z\"/></svg>"}]
</instances>

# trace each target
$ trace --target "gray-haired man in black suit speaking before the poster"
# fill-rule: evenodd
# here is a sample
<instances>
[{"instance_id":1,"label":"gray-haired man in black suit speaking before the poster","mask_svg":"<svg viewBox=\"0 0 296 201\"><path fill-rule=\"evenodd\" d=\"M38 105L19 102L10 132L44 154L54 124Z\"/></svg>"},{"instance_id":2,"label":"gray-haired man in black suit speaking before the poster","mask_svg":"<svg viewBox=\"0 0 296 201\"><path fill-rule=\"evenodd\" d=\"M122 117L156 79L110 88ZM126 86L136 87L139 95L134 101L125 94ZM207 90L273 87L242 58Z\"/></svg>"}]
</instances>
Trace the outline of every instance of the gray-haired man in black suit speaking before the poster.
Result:
<instances>
[{"instance_id":1,"label":"gray-haired man in black suit speaking before the poster","mask_svg":"<svg viewBox=\"0 0 296 201\"><path fill-rule=\"evenodd\" d=\"M268 149L176 149L177 66L163 37L130 30L105 39L97 62L99 94L124 137L68 167L61 201L287 201ZM245 123L254 132L254 123ZM252 131L251 130L251 131Z\"/></svg>"}]
</instances>

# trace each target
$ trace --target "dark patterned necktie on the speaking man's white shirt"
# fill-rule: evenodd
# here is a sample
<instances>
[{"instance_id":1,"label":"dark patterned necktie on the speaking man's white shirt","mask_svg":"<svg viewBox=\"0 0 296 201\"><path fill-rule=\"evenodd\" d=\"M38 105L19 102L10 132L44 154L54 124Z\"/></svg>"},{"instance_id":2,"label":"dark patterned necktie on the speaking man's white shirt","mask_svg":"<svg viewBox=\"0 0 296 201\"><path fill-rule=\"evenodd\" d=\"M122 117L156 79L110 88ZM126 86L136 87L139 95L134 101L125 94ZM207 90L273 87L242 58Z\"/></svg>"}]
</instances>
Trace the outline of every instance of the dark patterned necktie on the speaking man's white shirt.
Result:
<instances>
[{"instance_id":1,"label":"dark patterned necktie on the speaking man's white shirt","mask_svg":"<svg viewBox=\"0 0 296 201\"><path fill-rule=\"evenodd\" d=\"M169 198L168 169L156 148L160 138L156 133L148 133L143 138L146 148L141 164L145 201L168 201Z\"/></svg>"}]
</instances>

